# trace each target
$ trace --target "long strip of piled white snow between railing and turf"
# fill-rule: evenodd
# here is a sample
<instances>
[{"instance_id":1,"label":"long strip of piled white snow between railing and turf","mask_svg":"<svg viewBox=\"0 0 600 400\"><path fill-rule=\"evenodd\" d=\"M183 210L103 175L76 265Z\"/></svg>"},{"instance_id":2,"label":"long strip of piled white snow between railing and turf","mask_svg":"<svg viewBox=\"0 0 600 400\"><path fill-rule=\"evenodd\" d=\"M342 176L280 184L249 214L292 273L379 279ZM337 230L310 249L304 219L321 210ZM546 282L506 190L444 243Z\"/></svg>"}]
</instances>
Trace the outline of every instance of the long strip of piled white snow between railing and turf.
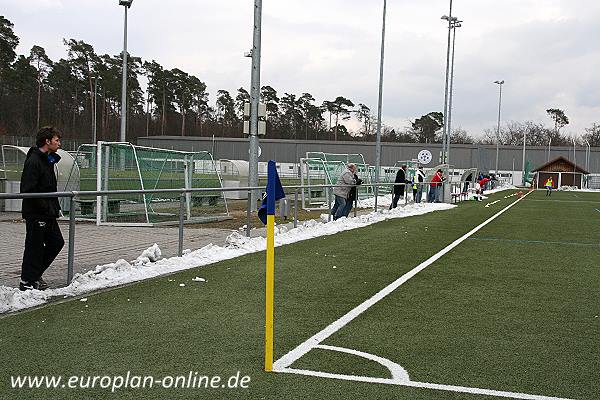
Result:
<instances>
[{"instance_id":1,"label":"long strip of piled white snow between railing and turf","mask_svg":"<svg viewBox=\"0 0 600 400\"><path fill-rule=\"evenodd\" d=\"M361 228L389 219L449 210L453 207L456 206L445 203L409 204L406 207L398 207L390 211L380 210L355 218L340 218L332 222L305 221L297 228L289 230L284 226L276 227L275 246L282 246L319 236L333 235L338 232ZM144 250L132 262L121 259L114 263L99 265L94 270L83 274L75 274L73 281L67 287L45 291L29 290L21 292L18 288L0 286L0 314L37 306L56 297L78 296L98 289L201 267L244 254L263 251L265 248L266 239L264 237L248 238L239 232L233 232L227 238L224 247L209 244L198 250L190 251L182 257L160 259L160 248L157 244L154 244L152 247Z\"/></svg>"}]
</instances>

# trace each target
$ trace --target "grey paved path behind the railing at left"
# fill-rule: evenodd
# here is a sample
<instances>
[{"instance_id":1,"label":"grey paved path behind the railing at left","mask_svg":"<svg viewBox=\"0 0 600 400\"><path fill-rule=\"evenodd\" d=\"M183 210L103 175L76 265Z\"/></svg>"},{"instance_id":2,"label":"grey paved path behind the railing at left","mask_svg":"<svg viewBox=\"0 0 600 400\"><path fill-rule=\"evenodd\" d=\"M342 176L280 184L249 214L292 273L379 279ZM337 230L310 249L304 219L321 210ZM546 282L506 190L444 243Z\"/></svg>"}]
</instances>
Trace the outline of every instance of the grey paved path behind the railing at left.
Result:
<instances>
[{"instance_id":1,"label":"grey paved path behind the railing at left","mask_svg":"<svg viewBox=\"0 0 600 400\"><path fill-rule=\"evenodd\" d=\"M68 242L69 225L59 221L65 242ZM198 249L209 243L222 245L232 231L229 229L185 228L184 249ZM158 243L163 257L177 255L178 228L140 228L96 226L78 223L75 227L75 259L73 270L85 272L96 265L107 264L124 258L135 260L142 251ZM19 214L0 213L0 285L17 286L21 275L25 223ZM44 274L53 287L64 286L67 280L68 245Z\"/></svg>"}]
</instances>

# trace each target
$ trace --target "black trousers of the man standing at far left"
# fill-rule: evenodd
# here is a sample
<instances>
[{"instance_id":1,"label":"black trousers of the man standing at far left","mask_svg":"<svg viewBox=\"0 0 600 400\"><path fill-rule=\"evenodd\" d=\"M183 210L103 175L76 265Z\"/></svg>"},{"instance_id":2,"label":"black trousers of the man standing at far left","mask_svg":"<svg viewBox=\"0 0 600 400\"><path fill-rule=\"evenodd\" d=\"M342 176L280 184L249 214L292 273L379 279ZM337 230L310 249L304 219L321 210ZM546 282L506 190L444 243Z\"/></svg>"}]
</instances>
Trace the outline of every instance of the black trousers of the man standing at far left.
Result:
<instances>
[{"instance_id":1,"label":"black trousers of the man standing at far left","mask_svg":"<svg viewBox=\"0 0 600 400\"><path fill-rule=\"evenodd\" d=\"M21 280L40 279L65 245L55 219L26 219L25 251L21 266Z\"/></svg>"}]
</instances>

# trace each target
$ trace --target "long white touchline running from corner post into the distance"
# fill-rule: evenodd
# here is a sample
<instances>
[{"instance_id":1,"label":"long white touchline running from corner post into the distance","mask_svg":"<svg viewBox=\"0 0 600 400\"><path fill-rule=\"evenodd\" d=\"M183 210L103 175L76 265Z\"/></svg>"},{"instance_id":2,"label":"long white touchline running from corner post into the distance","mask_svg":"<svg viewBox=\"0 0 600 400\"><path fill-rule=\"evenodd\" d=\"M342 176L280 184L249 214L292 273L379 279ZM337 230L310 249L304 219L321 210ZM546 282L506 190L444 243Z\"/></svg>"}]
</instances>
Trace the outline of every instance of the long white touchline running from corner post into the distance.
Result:
<instances>
[{"instance_id":1,"label":"long white touchline running from corner post into the distance","mask_svg":"<svg viewBox=\"0 0 600 400\"><path fill-rule=\"evenodd\" d=\"M419 272L421 272L422 270L424 270L425 268L427 268L428 266L430 266L431 264L436 262L440 257L442 257L444 254L448 253L450 250L454 249L456 246L461 244L469 236L472 236L477 231L479 231L481 228L483 228L484 226L486 226L487 224L492 222L494 219L498 218L500 215L502 215L504 212L506 212L512 206L514 206L519 201L521 201L526 196L528 196L529 193L531 193L531 192L528 192L523 197L520 197L514 203L509 204L504 209L500 210L498 213L496 213L492 217L490 217L488 220L482 222L481 224L479 224L478 226L476 226L475 228L473 228L472 230L470 230L469 232L467 232L460 238L456 239L454 242L450 243L444 249L440 250L438 253L429 257L427 260L423 261L421 264L417 265L415 268L413 268L406 274L402 275L400 278L396 279L394 282L392 282L385 288L381 289L379 292L377 292L371 298L365 300L363 303L359 304L358 306L356 306L355 308L350 310L347 314L343 315L338 320L332 322L330 325L325 327L322 331L320 331L320 332L316 333L315 335L313 335L312 337L308 338L306 341L304 341L303 343L298 345L298 347L291 350L289 353L287 353L286 355L281 357L279 360L275 361L275 363L273 364L273 371L275 371L275 372L282 371L284 368L287 368L290 365L292 365L300 357L304 356L310 350L312 350L317 345L319 345L322 341L324 341L329 336L333 335L335 332L337 332L338 330L340 330L341 328L346 326L354 318L358 317L360 314L362 314L363 312L368 310L374 304L376 304L377 302L379 302L380 300L385 298L387 295L392 293L394 290L396 290L402 284L407 282L410 278L412 278L413 276L415 276L416 274L418 274Z\"/></svg>"}]
</instances>

